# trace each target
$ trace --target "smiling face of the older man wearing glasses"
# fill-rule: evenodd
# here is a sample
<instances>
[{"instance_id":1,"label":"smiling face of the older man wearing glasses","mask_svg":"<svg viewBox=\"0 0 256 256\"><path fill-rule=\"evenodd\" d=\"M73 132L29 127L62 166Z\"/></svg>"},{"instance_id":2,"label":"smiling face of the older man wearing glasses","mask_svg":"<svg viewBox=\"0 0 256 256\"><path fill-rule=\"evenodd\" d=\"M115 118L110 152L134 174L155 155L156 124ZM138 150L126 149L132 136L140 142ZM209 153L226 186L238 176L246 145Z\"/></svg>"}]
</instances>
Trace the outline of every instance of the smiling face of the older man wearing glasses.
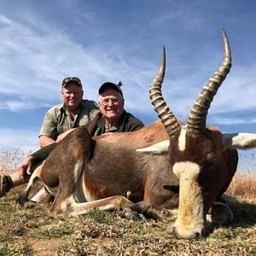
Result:
<instances>
[{"instance_id":1,"label":"smiling face of the older man wearing glasses","mask_svg":"<svg viewBox=\"0 0 256 256\"><path fill-rule=\"evenodd\" d=\"M99 107L107 119L118 120L124 112L125 101L121 94L112 88L104 90L99 97Z\"/></svg>"}]
</instances>

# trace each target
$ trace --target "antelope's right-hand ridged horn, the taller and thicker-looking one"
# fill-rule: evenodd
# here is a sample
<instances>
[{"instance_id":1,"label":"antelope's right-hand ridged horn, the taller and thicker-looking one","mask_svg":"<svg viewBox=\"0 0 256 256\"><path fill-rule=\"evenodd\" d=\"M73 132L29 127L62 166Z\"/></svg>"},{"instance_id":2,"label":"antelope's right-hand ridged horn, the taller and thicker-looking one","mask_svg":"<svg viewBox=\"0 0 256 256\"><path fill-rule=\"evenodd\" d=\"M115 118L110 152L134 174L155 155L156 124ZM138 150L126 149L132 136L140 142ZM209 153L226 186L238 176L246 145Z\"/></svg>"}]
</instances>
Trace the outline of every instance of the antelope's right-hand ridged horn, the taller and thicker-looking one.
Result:
<instances>
[{"instance_id":1,"label":"antelope's right-hand ridged horn, the taller and thicker-looking one","mask_svg":"<svg viewBox=\"0 0 256 256\"><path fill-rule=\"evenodd\" d=\"M213 96L217 93L218 88L226 78L226 75L230 72L232 66L229 39L224 32L224 28L221 29L221 32L224 39L224 61L222 66L218 67L217 72L209 79L208 84L203 87L201 94L197 97L191 108L187 127L189 134L204 133L206 129L207 113Z\"/></svg>"}]
</instances>

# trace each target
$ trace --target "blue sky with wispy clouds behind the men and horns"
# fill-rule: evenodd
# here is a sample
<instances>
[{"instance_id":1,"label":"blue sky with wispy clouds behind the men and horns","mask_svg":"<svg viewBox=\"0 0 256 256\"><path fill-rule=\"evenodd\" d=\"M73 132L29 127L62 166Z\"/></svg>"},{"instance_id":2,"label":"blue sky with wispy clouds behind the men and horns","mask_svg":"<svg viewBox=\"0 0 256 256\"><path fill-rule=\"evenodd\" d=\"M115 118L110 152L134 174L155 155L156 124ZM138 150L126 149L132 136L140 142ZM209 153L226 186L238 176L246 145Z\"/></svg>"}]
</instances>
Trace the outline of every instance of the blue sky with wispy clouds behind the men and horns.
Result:
<instances>
[{"instance_id":1,"label":"blue sky with wispy clouds behind the men and horns","mask_svg":"<svg viewBox=\"0 0 256 256\"><path fill-rule=\"evenodd\" d=\"M61 80L67 76L78 76L84 97L93 100L100 84L121 80L126 110L152 123L157 117L148 87L163 45L163 94L186 121L223 60L222 26L233 67L207 123L225 132L255 132L255 17L256 2L241 0L2 0L0 150L38 149L44 113L61 102Z\"/></svg>"}]
</instances>

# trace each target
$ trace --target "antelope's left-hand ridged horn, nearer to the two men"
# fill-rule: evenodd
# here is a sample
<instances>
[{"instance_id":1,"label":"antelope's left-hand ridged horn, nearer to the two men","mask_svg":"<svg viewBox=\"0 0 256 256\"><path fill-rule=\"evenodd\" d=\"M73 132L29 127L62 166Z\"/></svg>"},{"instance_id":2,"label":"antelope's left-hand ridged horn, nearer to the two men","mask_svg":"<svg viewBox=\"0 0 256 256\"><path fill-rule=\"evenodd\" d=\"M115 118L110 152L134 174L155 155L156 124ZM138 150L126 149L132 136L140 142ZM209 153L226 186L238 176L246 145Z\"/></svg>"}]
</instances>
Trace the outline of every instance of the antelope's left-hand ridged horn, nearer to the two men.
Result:
<instances>
[{"instance_id":1,"label":"antelope's left-hand ridged horn, nearer to the two men","mask_svg":"<svg viewBox=\"0 0 256 256\"><path fill-rule=\"evenodd\" d=\"M163 99L161 93L161 86L165 78L166 72L166 49L163 48L162 60L160 64L160 70L155 76L153 83L150 85L149 94L151 103L154 106L154 111L158 113L158 116L163 125L166 127L166 131L169 136L179 134L181 127L177 122L174 114L166 106L166 102Z\"/></svg>"}]
</instances>

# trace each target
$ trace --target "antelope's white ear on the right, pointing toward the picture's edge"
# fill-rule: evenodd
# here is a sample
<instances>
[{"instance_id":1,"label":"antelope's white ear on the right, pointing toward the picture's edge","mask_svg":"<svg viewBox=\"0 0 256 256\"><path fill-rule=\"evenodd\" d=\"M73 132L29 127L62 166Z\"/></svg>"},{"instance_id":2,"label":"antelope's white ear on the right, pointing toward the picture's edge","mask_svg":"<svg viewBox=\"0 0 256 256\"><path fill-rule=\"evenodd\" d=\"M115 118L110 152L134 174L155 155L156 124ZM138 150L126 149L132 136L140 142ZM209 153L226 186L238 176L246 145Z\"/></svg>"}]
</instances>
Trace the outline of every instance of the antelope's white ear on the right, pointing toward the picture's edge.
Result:
<instances>
[{"instance_id":1,"label":"antelope's white ear on the right, pointing toward the picture's edge","mask_svg":"<svg viewBox=\"0 0 256 256\"><path fill-rule=\"evenodd\" d=\"M226 148L250 149L256 148L254 133L223 133L223 143Z\"/></svg>"}]
</instances>

